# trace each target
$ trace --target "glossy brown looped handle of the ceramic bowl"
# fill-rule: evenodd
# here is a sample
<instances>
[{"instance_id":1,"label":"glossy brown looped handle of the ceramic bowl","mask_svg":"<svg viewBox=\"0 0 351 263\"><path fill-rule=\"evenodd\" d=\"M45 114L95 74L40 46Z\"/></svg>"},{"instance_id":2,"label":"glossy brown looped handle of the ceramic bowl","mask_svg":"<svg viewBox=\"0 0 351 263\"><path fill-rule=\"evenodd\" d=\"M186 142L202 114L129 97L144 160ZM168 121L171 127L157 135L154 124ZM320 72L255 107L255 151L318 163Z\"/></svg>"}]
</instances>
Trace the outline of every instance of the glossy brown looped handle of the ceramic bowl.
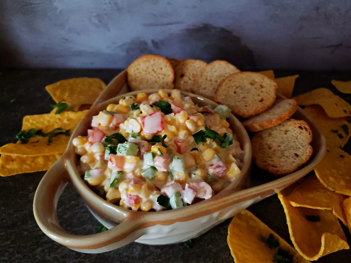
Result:
<instances>
[{"instance_id":1,"label":"glossy brown looped handle of the ceramic bowl","mask_svg":"<svg viewBox=\"0 0 351 263\"><path fill-rule=\"evenodd\" d=\"M52 240L73 250L86 253L110 251L133 242L145 232L136 231L144 223L142 217L125 217L119 225L107 231L79 236L65 231L57 220L56 207L60 194L68 183L68 175L61 158L46 172L39 183L33 201L35 220Z\"/></svg>"}]
</instances>

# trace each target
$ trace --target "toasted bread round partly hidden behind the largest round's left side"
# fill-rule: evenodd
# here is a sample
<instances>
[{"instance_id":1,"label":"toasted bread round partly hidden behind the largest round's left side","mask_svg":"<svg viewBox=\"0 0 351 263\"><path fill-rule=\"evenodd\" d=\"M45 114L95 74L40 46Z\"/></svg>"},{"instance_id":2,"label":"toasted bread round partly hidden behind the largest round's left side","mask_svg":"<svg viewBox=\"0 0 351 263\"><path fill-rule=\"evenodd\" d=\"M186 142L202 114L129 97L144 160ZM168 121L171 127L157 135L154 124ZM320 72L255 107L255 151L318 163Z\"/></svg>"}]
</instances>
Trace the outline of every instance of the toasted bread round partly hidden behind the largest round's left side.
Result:
<instances>
[{"instance_id":1,"label":"toasted bread round partly hidden behind the largest round's left side","mask_svg":"<svg viewBox=\"0 0 351 263\"><path fill-rule=\"evenodd\" d=\"M219 83L227 76L240 72L231 63L224 60L215 60L201 69L197 84L192 89L193 93L213 100L214 92Z\"/></svg>"}]
</instances>

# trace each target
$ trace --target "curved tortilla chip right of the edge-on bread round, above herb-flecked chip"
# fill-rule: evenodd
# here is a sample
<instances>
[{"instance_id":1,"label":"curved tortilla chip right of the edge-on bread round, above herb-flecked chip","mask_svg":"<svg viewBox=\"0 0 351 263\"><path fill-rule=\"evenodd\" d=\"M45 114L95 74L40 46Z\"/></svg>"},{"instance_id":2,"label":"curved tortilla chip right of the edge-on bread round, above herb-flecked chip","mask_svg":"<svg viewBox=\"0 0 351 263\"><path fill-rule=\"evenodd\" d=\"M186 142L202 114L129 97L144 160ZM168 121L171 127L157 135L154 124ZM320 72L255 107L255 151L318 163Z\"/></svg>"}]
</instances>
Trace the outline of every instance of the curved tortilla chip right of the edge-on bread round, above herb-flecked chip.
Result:
<instances>
[{"instance_id":1,"label":"curved tortilla chip right of the edge-on bread round, above herb-flecked chip","mask_svg":"<svg viewBox=\"0 0 351 263\"><path fill-rule=\"evenodd\" d=\"M351 116L351 105L326 88L314 89L294 99L298 105L319 104L332 118Z\"/></svg>"}]
</instances>

